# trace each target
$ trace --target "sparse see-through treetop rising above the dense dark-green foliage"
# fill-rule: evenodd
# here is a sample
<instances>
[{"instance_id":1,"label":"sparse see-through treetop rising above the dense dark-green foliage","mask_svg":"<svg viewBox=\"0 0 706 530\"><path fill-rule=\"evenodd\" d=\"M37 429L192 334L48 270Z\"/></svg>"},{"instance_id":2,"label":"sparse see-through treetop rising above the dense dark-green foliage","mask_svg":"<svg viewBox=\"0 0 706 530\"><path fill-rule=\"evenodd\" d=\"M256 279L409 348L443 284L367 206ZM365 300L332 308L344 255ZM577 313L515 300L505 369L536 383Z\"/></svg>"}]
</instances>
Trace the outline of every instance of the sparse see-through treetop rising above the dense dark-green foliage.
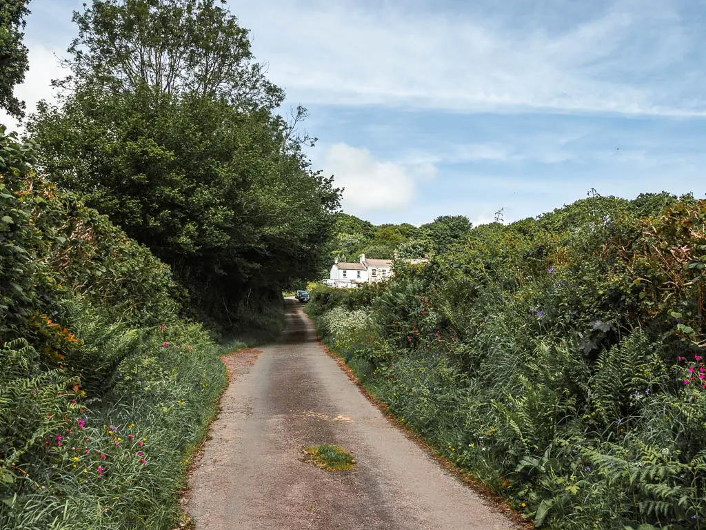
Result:
<instances>
[{"instance_id":1,"label":"sparse see-through treetop rising above the dense dark-green foliage","mask_svg":"<svg viewBox=\"0 0 706 530\"><path fill-rule=\"evenodd\" d=\"M273 110L283 91L253 62L248 31L214 0L94 0L75 12L66 66L109 93L200 95L241 109Z\"/></svg>"}]
</instances>

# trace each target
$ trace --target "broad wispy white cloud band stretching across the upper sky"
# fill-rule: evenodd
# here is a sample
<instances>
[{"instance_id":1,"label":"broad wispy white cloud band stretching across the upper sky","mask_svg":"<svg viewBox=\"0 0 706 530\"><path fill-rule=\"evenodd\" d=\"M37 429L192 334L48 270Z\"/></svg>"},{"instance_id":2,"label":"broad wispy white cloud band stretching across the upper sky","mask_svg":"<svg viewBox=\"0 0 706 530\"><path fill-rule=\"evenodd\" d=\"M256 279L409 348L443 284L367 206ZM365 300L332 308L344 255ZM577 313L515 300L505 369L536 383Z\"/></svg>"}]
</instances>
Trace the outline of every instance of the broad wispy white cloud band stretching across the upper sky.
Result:
<instances>
[{"instance_id":1,"label":"broad wispy white cloud band stretching across the upper sky","mask_svg":"<svg viewBox=\"0 0 706 530\"><path fill-rule=\"evenodd\" d=\"M561 32L510 27L492 18L495 8L453 16L414 4L273 0L237 3L234 11L294 100L706 116L705 77L675 59L690 45L669 4L618 1L591 20L566 16ZM679 90L691 97L670 99L671 80L685 73L691 77Z\"/></svg>"}]
</instances>

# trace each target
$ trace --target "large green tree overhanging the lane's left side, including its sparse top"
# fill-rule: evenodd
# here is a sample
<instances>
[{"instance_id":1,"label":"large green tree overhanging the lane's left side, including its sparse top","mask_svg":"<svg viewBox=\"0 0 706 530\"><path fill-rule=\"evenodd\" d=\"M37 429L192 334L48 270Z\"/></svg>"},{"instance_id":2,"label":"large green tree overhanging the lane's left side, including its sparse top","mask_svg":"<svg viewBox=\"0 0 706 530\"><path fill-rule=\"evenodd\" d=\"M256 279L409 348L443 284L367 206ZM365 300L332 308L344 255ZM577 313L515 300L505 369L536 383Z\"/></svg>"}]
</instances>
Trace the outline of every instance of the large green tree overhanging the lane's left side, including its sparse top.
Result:
<instances>
[{"instance_id":1,"label":"large green tree overhanging the lane's left side, including its sparse top","mask_svg":"<svg viewBox=\"0 0 706 530\"><path fill-rule=\"evenodd\" d=\"M40 163L172 265L202 313L316 276L339 192L213 0L96 0L29 129Z\"/></svg>"}]
</instances>

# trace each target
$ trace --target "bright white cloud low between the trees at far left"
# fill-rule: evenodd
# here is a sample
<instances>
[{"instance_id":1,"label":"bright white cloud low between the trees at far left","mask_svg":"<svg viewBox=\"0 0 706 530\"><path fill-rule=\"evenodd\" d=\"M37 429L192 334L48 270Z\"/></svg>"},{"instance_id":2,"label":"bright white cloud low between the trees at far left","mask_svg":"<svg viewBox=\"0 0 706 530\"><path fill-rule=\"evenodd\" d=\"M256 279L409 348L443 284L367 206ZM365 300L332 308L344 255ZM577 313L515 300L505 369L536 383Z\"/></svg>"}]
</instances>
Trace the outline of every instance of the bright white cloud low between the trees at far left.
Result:
<instances>
[{"instance_id":1,"label":"bright white cloud low between the trees at far left","mask_svg":"<svg viewBox=\"0 0 706 530\"><path fill-rule=\"evenodd\" d=\"M26 43L29 54L30 69L25 74L25 81L15 87L15 95L24 100L27 105L26 114L35 112L37 103L42 99L52 99L52 79L66 76L66 71L59 66L61 50L45 47L37 42ZM11 131L21 129L16 119L9 117L0 110L0 123L8 126Z\"/></svg>"}]
</instances>

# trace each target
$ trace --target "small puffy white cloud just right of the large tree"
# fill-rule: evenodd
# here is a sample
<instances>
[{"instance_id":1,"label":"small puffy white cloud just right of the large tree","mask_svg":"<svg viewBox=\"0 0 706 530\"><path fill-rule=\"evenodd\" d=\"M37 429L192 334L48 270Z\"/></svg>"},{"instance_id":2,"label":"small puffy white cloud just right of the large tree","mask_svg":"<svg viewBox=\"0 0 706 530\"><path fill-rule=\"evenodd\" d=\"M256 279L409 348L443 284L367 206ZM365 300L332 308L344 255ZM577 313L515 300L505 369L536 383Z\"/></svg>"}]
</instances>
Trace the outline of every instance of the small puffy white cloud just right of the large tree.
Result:
<instances>
[{"instance_id":1,"label":"small puffy white cloud just right of the large tree","mask_svg":"<svg viewBox=\"0 0 706 530\"><path fill-rule=\"evenodd\" d=\"M344 187L342 204L348 213L399 210L414 201L419 182L436 175L431 163L402 165L378 160L366 149L336 143L323 160L324 172Z\"/></svg>"}]
</instances>

